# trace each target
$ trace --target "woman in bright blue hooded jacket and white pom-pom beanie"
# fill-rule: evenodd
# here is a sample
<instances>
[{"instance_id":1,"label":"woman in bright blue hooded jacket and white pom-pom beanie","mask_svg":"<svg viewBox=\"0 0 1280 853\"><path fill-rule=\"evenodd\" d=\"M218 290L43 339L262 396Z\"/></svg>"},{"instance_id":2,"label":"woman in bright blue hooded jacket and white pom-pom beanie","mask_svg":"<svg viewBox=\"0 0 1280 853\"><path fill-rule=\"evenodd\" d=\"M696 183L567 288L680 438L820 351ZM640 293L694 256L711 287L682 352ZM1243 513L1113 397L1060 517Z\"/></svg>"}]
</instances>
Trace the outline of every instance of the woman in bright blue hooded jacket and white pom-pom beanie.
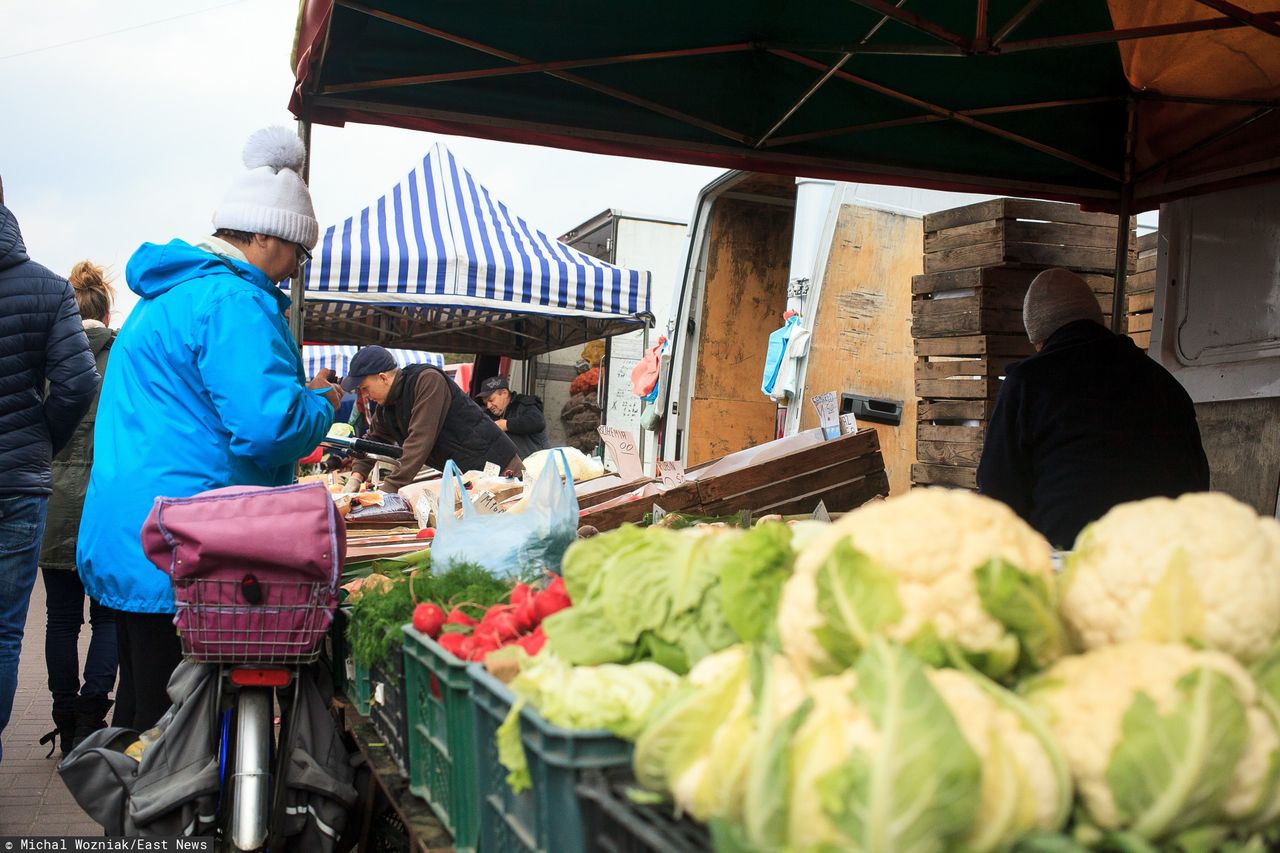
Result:
<instances>
[{"instance_id":1,"label":"woman in bright blue hooded jacket and white pom-pom beanie","mask_svg":"<svg viewBox=\"0 0 1280 853\"><path fill-rule=\"evenodd\" d=\"M155 498L287 484L333 424L340 389L306 383L276 287L319 237L305 154L288 129L259 131L215 234L145 243L125 269L141 301L111 350L77 551L87 592L119 611L115 725L155 725L182 660L169 578L140 540Z\"/></svg>"}]
</instances>

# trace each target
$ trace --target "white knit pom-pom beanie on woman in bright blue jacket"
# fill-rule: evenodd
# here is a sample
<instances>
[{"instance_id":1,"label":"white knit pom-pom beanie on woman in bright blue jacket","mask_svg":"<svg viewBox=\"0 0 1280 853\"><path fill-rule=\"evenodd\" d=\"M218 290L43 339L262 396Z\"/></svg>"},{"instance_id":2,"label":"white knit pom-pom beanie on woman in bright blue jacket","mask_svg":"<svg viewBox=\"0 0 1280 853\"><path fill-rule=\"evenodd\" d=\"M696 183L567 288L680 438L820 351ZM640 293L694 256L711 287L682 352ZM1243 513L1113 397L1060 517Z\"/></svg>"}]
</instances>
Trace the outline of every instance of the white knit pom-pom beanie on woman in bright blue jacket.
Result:
<instances>
[{"instance_id":1,"label":"white knit pom-pom beanie on woman in bright blue jacket","mask_svg":"<svg viewBox=\"0 0 1280 853\"><path fill-rule=\"evenodd\" d=\"M253 133L244 143L242 174L214 211L214 228L269 234L314 248L320 223L311 206L311 193L300 172L306 147L284 127Z\"/></svg>"}]
</instances>

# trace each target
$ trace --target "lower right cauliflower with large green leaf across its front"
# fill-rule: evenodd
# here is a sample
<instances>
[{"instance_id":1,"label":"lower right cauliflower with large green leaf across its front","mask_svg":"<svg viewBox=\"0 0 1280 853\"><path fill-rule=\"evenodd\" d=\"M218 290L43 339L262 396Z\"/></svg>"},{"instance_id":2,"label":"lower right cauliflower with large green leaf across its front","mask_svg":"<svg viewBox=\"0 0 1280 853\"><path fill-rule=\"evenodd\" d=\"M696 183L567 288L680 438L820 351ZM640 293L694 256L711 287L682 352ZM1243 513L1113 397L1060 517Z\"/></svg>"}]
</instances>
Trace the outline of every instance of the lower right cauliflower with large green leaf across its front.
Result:
<instances>
[{"instance_id":1,"label":"lower right cauliflower with large green leaf across its front","mask_svg":"<svg viewBox=\"0 0 1280 853\"><path fill-rule=\"evenodd\" d=\"M1167 841L1275 820L1277 717L1230 656L1107 646L1062 658L1024 693L1044 715L1097 827Z\"/></svg>"}]
</instances>

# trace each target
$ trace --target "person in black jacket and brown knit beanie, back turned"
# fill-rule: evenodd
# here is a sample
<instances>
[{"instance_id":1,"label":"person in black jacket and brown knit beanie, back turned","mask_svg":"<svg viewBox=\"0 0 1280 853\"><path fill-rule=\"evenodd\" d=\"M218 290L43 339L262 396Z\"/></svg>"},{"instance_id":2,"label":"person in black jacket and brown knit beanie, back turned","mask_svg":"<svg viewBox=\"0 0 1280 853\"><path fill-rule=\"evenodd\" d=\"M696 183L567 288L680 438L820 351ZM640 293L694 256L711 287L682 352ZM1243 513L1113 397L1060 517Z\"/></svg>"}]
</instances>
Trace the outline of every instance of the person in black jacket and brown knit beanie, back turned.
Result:
<instances>
[{"instance_id":1,"label":"person in black jacket and brown knit beanie, back turned","mask_svg":"<svg viewBox=\"0 0 1280 853\"><path fill-rule=\"evenodd\" d=\"M1178 380L1112 334L1089 286L1051 269L1023 304L1037 353L1009 366L978 466L1056 548L1111 507L1208 489L1196 409Z\"/></svg>"}]
</instances>

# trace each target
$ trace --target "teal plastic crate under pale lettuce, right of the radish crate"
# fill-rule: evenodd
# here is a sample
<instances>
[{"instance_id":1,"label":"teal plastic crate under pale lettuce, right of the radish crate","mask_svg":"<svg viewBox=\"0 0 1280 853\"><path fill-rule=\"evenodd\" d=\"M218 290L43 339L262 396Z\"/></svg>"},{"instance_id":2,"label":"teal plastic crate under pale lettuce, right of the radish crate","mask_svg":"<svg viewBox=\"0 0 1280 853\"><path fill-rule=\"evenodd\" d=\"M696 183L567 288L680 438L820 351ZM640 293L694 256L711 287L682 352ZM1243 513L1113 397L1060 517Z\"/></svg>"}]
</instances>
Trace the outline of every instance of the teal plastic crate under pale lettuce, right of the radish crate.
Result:
<instances>
[{"instance_id":1,"label":"teal plastic crate under pale lettuce, right of the radish crate","mask_svg":"<svg viewBox=\"0 0 1280 853\"><path fill-rule=\"evenodd\" d=\"M579 776L585 770L631 763L631 744L608 731L572 731L543 720L530 707L520 715L520 738L534 786L518 794L507 784L494 735L515 694L484 666L471 665L476 771L480 790L480 849L517 853L586 853Z\"/></svg>"}]
</instances>

